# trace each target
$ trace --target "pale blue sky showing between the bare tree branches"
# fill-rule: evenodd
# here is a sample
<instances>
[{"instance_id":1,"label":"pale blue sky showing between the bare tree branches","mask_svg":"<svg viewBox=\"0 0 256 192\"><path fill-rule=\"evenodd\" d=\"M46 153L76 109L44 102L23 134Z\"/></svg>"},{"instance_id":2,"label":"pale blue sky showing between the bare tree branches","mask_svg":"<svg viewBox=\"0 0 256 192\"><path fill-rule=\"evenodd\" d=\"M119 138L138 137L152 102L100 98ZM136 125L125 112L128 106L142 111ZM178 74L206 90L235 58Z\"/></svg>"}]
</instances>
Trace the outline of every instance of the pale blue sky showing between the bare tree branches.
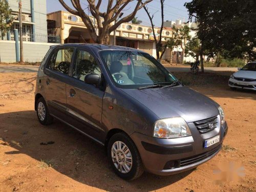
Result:
<instances>
[{"instance_id":1,"label":"pale blue sky showing between the bare tree branches","mask_svg":"<svg viewBox=\"0 0 256 192\"><path fill-rule=\"evenodd\" d=\"M173 20L181 19L187 22L188 15L187 10L184 7L185 2L189 2L190 0L165 0L164 3L164 20ZM65 0L65 2L71 6L70 0ZM80 0L81 5L84 9L87 8L87 1L86 0ZM97 0L96 0L97 2ZM106 8L108 0L102 0L101 4L101 11L104 11ZM127 8L124 9L123 13L125 15L130 14L136 5L136 1L131 2L129 5L127 5ZM59 10L65 10L65 8L62 7L62 5L59 3L58 0L47 0L47 13L51 13L54 11ZM154 25L159 27L161 25L161 4L160 0L153 0L153 2L148 4L148 10L153 14L154 13ZM88 9L86 9L88 11ZM146 15L145 10L142 8L137 12L136 17L138 17L139 20L142 20L142 25L151 26L150 20Z\"/></svg>"}]
</instances>

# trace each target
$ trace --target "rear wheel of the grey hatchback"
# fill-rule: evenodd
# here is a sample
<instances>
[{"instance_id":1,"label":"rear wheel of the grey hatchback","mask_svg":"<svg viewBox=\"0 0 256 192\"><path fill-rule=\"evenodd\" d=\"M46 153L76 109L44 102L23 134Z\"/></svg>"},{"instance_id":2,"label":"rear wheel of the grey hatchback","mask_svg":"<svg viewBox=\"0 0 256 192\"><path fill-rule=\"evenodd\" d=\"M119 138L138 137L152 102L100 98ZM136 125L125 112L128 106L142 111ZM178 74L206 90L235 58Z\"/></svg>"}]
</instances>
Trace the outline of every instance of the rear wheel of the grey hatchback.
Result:
<instances>
[{"instance_id":1,"label":"rear wheel of the grey hatchback","mask_svg":"<svg viewBox=\"0 0 256 192\"><path fill-rule=\"evenodd\" d=\"M36 114L41 124L49 125L52 123L53 117L49 114L46 101L42 97L40 97L36 101Z\"/></svg>"}]
</instances>

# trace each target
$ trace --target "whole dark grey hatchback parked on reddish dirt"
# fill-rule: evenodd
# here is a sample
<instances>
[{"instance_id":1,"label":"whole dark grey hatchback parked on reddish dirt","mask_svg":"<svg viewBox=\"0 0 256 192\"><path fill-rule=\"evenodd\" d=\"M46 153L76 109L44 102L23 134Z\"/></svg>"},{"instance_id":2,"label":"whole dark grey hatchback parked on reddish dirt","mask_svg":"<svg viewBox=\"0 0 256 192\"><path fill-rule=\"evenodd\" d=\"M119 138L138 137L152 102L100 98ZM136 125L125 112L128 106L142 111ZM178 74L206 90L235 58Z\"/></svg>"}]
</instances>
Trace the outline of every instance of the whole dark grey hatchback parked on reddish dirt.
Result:
<instances>
[{"instance_id":1,"label":"whole dark grey hatchback parked on reddish dirt","mask_svg":"<svg viewBox=\"0 0 256 192\"><path fill-rule=\"evenodd\" d=\"M39 67L35 110L105 146L126 180L144 170L172 175L220 150L227 134L221 106L184 86L142 51L97 44L50 48Z\"/></svg>"}]
</instances>

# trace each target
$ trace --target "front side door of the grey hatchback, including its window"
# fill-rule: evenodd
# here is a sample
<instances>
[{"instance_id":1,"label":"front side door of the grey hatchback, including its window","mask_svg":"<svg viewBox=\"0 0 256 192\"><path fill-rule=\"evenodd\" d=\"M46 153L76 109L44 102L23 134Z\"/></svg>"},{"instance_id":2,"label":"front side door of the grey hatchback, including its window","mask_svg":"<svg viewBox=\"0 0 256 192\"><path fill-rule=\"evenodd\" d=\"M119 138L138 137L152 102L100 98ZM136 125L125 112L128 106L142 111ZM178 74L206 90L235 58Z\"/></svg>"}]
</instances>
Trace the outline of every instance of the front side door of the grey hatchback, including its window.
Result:
<instances>
[{"instance_id":1,"label":"front side door of the grey hatchback, including its window","mask_svg":"<svg viewBox=\"0 0 256 192\"><path fill-rule=\"evenodd\" d=\"M67 115L71 125L96 140L103 135L101 129L102 98L104 91L84 82L86 75L101 70L94 56L87 50L77 49L71 78L67 82Z\"/></svg>"}]
</instances>

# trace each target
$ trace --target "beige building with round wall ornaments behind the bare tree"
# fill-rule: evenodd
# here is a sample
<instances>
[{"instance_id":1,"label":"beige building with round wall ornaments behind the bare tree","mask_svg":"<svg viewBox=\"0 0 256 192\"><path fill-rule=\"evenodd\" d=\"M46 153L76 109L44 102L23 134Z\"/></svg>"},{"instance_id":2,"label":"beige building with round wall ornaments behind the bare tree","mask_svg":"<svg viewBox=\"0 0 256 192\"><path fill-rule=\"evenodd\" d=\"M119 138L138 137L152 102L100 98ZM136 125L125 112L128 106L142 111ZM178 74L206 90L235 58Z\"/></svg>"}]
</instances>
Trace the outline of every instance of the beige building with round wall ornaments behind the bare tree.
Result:
<instances>
[{"instance_id":1,"label":"beige building with round wall ornaments behind the bare tree","mask_svg":"<svg viewBox=\"0 0 256 192\"><path fill-rule=\"evenodd\" d=\"M97 28L97 22L91 17L92 23ZM87 42L93 43L87 27L83 24L80 17L66 11L57 11L47 14L48 34L60 36L61 44ZM157 36L160 29L155 28ZM166 42L166 37L172 37L171 28L164 28L162 32L162 43ZM113 44L114 32L110 36L110 44ZM131 47L143 50L156 57L156 46L153 41L152 28L148 26L123 23L116 30L116 45ZM166 50L163 60L169 60L170 51Z\"/></svg>"}]
</instances>

